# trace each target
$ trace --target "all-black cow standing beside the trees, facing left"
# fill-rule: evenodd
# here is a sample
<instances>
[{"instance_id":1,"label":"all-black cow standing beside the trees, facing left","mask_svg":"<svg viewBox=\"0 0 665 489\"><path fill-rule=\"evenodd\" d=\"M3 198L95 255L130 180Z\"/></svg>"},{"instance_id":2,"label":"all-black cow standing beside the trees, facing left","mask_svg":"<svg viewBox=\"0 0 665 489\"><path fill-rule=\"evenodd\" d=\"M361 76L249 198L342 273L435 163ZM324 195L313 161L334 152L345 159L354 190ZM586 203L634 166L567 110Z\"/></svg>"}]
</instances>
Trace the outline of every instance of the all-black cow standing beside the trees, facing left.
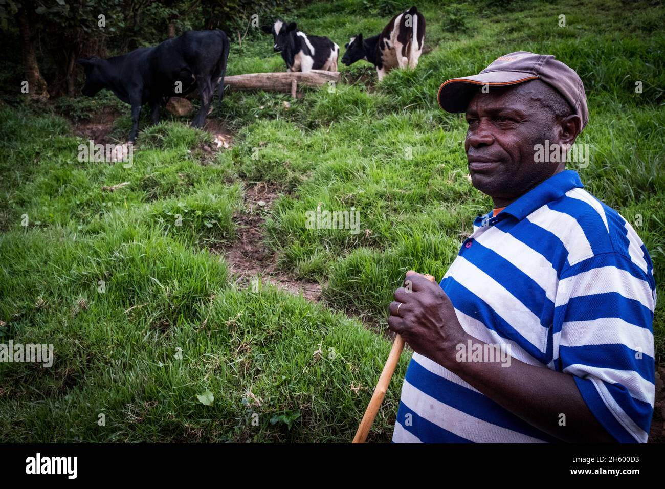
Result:
<instances>
[{"instance_id":1,"label":"all-black cow standing beside the trees, facing left","mask_svg":"<svg viewBox=\"0 0 665 489\"><path fill-rule=\"evenodd\" d=\"M192 126L203 127L217 84L219 100L223 98L229 47L224 31L186 31L154 47L108 59L79 59L76 63L85 71L84 95L94 96L102 88L108 88L132 106L129 141L134 142L143 104L150 104L152 122L157 124L161 104L195 88L199 90L201 109Z\"/></svg>"}]
</instances>

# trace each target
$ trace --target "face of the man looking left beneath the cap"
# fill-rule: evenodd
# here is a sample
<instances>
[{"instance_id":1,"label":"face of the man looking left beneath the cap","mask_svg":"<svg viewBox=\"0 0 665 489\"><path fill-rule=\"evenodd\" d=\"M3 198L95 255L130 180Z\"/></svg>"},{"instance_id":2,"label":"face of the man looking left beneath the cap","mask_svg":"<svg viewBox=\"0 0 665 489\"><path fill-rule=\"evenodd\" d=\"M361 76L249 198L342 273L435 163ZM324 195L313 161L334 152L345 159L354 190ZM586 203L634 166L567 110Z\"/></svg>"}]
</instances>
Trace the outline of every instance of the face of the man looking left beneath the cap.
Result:
<instances>
[{"instance_id":1,"label":"face of the man looking left beneath the cap","mask_svg":"<svg viewBox=\"0 0 665 489\"><path fill-rule=\"evenodd\" d=\"M464 149L473 186L495 206L512 202L553 174L560 162L534 162L535 144L558 143L557 120L539 99L543 82L480 90L469 102Z\"/></svg>"}]
</instances>

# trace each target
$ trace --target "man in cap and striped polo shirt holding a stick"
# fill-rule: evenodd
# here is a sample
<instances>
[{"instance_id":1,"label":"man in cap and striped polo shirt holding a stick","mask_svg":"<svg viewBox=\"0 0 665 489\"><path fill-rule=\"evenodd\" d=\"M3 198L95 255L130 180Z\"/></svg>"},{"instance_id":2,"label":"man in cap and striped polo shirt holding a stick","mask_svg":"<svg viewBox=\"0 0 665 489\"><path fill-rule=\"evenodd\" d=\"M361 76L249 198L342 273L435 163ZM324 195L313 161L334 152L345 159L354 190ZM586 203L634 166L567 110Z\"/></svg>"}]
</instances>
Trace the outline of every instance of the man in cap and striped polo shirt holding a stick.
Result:
<instances>
[{"instance_id":1,"label":"man in cap and striped polo shirt holding a stick","mask_svg":"<svg viewBox=\"0 0 665 489\"><path fill-rule=\"evenodd\" d=\"M471 182L494 208L440 285L410 271L394 293L388 324L414 355L393 441L646 442L653 265L552 149L587 124L581 79L520 51L438 100L466 112Z\"/></svg>"}]
</instances>

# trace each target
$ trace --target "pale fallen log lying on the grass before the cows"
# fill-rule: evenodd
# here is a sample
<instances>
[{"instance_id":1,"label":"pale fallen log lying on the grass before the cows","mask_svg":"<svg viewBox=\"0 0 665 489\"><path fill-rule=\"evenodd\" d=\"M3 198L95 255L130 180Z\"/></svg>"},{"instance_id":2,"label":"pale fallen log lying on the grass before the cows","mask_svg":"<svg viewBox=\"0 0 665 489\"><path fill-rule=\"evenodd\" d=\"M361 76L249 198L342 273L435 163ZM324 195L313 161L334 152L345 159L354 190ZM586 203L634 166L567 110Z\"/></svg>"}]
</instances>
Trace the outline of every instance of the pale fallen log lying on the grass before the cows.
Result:
<instances>
[{"instance_id":1,"label":"pale fallen log lying on the grass before the cows","mask_svg":"<svg viewBox=\"0 0 665 489\"><path fill-rule=\"evenodd\" d=\"M224 84L231 90L266 90L272 92L291 92L295 98L297 84L323 86L329 82L338 83L338 71L312 70L308 73L247 73L225 77Z\"/></svg>"}]
</instances>

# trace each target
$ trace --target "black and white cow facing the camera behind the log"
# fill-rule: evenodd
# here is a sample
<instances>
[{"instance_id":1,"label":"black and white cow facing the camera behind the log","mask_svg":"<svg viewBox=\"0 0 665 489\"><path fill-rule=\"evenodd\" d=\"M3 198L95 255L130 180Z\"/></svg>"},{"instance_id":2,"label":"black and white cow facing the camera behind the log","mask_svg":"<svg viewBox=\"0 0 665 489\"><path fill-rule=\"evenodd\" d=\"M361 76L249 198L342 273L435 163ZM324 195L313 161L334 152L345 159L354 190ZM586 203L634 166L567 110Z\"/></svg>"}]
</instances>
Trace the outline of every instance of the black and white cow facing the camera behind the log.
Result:
<instances>
[{"instance_id":1,"label":"black and white cow facing the camera behind the log","mask_svg":"<svg viewBox=\"0 0 665 489\"><path fill-rule=\"evenodd\" d=\"M273 35L275 51L282 53L287 71L337 71L339 46L327 37L307 35L297 30L295 22L286 24L280 20L272 26L263 25L261 29Z\"/></svg>"}]
</instances>

